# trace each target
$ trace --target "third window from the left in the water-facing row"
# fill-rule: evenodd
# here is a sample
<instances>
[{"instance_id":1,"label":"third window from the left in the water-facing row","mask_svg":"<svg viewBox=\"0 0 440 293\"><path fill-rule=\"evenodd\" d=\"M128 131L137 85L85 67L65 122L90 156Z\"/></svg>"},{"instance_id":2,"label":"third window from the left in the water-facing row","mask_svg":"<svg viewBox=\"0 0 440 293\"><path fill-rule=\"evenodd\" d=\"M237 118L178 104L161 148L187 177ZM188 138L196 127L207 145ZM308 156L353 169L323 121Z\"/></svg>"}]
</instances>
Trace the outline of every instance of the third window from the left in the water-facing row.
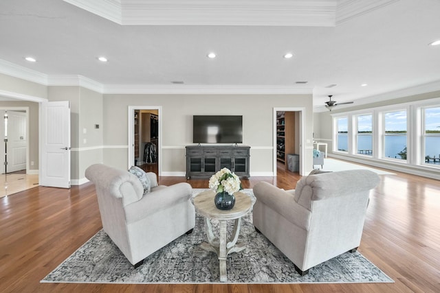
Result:
<instances>
[{"instance_id":1,"label":"third window from the left in the water-facing row","mask_svg":"<svg viewBox=\"0 0 440 293\"><path fill-rule=\"evenodd\" d=\"M406 110L384 113L384 158L406 160Z\"/></svg>"}]
</instances>

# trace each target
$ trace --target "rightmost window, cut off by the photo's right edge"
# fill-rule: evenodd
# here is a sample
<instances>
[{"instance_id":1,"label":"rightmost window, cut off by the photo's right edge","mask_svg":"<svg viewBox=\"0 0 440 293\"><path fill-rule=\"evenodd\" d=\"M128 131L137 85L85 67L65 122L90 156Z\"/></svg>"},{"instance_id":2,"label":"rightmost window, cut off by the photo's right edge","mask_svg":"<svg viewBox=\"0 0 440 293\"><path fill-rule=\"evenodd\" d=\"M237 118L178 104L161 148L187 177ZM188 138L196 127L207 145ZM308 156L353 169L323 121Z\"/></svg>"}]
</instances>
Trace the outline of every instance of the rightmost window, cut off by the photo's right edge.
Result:
<instances>
[{"instance_id":1,"label":"rightmost window, cut off by the photo's right edge","mask_svg":"<svg viewBox=\"0 0 440 293\"><path fill-rule=\"evenodd\" d=\"M440 164L440 107L423 109L423 145L427 164Z\"/></svg>"}]
</instances>

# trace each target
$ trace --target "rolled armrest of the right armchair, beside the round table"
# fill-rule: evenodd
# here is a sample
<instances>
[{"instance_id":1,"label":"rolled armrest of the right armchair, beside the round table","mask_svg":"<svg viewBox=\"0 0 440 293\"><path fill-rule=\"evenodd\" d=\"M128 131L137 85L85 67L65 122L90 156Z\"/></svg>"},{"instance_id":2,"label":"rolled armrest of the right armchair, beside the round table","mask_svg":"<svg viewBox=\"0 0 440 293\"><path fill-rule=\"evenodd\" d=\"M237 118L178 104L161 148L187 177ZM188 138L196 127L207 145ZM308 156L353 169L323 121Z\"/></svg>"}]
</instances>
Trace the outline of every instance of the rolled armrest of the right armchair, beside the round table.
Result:
<instances>
[{"instance_id":1,"label":"rolled armrest of the right armchair, beside the round table","mask_svg":"<svg viewBox=\"0 0 440 293\"><path fill-rule=\"evenodd\" d=\"M311 212L295 201L294 194L270 183L261 182L254 186L254 195L257 202L261 201L292 224L309 230Z\"/></svg>"}]
</instances>

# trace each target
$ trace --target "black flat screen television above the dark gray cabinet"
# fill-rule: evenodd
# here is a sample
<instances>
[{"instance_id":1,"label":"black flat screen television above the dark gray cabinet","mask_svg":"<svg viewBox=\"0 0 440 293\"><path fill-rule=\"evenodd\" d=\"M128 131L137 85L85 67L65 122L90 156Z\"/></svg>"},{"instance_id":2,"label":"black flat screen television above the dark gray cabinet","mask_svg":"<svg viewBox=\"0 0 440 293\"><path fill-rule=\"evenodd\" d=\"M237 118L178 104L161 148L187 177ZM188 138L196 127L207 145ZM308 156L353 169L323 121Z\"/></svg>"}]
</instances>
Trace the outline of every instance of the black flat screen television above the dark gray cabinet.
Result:
<instances>
[{"instance_id":1,"label":"black flat screen television above the dark gray cabinet","mask_svg":"<svg viewBox=\"0 0 440 293\"><path fill-rule=\"evenodd\" d=\"M193 143L243 143L243 116L192 116Z\"/></svg>"}]
</instances>

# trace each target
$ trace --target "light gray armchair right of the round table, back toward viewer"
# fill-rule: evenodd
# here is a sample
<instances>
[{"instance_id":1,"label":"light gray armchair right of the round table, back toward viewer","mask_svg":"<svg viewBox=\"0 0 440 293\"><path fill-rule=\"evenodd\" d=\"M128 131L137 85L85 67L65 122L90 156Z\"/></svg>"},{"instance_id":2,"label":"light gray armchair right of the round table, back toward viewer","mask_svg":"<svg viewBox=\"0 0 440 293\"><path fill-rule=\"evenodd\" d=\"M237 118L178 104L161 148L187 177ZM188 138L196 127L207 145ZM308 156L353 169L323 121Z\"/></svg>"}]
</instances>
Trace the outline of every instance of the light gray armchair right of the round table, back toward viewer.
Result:
<instances>
[{"instance_id":1,"label":"light gray armchair right of the round table, back toward viewer","mask_svg":"<svg viewBox=\"0 0 440 293\"><path fill-rule=\"evenodd\" d=\"M378 183L379 176L364 169L304 176L289 191L257 183L254 226L305 275L358 248L369 191Z\"/></svg>"}]
</instances>

